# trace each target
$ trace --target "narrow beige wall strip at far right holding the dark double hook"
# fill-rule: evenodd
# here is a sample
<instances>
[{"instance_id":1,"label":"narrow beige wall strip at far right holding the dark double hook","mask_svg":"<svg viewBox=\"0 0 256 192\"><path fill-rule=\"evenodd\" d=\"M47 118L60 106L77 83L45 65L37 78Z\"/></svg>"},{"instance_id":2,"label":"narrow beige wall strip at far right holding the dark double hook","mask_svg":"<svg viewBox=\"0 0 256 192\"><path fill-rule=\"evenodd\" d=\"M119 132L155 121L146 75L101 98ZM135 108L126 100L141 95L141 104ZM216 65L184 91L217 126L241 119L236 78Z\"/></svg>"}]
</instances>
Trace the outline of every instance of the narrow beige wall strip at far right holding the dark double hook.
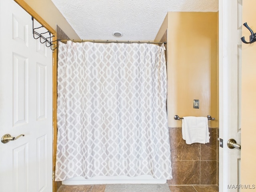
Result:
<instances>
[{"instance_id":1,"label":"narrow beige wall strip at far right holding the dark double hook","mask_svg":"<svg viewBox=\"0 0 256 192\"><path fill-rule=\"evenodd\" d=\"M256 32L255 0L243 0L242 22ZM242 36L249 41L250 32L244 26ZM241 177L242 184L256 185L256 42L242 43L242 132L241 132ZM256 191L247 189L242 191Z\"/></svg>"}]
</instances>

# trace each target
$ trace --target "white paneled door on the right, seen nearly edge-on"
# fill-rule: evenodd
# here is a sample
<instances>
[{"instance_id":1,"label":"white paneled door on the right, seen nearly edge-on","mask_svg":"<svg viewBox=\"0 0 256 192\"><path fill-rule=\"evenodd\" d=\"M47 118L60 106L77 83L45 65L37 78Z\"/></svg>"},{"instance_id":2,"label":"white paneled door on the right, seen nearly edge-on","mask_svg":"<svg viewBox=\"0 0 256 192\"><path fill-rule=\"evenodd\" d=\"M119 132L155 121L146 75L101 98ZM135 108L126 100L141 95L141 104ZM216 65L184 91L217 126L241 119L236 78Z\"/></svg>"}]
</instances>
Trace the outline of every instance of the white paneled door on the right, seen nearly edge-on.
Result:
<instances>
[{"instance_id":1,"label":"white paneled door on the right, seen nearly edge-on","mask_svg":"<svg viewBox=\"0 0 256 192\"><path fill-rule=\"evenodd\" d=\"M241 150L242 0L219 0L219 191L239 192ZM221 140L222 139L222 140Z\"/></svg>"}]
</instances>

